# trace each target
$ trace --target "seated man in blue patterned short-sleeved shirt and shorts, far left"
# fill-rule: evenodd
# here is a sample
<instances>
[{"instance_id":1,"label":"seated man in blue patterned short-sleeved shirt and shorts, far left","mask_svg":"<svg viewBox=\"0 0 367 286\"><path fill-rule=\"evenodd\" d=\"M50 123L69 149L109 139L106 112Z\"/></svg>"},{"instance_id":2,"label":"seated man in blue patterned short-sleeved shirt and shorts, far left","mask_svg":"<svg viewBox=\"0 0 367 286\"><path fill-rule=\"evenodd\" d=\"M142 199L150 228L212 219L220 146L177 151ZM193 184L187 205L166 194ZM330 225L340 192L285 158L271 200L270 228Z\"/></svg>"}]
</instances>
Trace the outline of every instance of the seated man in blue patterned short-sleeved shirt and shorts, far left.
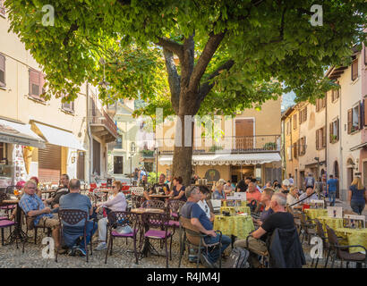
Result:
<instances>
[{"instance_id":1,"label":"seated man in blue patterned short-sleeved shirt and shorts, far left","mask_svg":"<svg viewBox=\"0 0 367 286\"><path fill-rule=\"evenodd\" d=\"M30 217L35 217L35 226L46 226L52 230L52 238L55 240L55 249L60 246L60 222L57 214L50 214L51 209L45 207L42 200L36 195L37 184L35 181L27 181L24 185L24 194L19 206ZM60 250L60 254L64 253Z\"/></svg>"}]
</instances>

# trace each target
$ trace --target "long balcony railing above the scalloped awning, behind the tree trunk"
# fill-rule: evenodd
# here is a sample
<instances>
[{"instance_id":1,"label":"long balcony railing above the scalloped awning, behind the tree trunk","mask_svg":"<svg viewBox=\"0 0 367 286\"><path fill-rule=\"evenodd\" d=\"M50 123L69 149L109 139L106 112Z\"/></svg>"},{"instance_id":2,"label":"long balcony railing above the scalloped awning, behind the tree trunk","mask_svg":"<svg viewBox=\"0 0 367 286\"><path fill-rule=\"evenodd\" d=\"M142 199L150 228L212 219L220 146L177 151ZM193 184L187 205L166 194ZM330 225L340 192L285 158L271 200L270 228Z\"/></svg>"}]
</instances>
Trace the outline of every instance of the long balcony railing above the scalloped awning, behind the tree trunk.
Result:
<instances>
[{"instance_id":1,"label":"long balcony railing above the scalloped awning, behind the tree trunk","mask_svg":"<svg viewBox=\"0 0 367 286\"><path fill-rule=\"evenodd\" d=\"M171 155L174 153L175 147L172 145L172 139L159 140L162 147L158 147L160 155ZM200 145L201 142L201 145ZM279 152L280 151L280 135L256 135L243 137L226 137L218 140L195 138L193 143L192 154L214 154L214 153L258 153L258 152Z\"/></svg>"}]
</instances>

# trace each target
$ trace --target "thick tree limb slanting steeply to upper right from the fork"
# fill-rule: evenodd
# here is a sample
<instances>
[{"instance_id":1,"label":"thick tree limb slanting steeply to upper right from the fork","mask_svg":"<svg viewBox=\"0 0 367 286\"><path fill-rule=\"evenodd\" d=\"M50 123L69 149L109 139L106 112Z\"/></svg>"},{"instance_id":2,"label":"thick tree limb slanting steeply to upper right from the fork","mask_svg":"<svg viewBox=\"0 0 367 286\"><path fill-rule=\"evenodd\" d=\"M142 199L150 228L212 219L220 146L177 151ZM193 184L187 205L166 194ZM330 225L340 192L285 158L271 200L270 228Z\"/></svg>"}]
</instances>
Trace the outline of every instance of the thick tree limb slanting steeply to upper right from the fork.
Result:
<instances>
[{"instance_id":1,"label":"thick tree limb slanting steeply to upper right from the fork","mask_svg":"<svg viewBox=\"0 0 367 286\"><path fill-rule=\"evenodd\" d=\"M226 30L216 35L213 32L210 32L209 40L201 53L198 63L196 63L192 71L189 85L189 89L191 89L192 92L195 92L198 89L201 77L207 69L207 66L214 53L217 51L220 42L223 38L225 38L225 34Z\"/></svg>"}]
</instances>

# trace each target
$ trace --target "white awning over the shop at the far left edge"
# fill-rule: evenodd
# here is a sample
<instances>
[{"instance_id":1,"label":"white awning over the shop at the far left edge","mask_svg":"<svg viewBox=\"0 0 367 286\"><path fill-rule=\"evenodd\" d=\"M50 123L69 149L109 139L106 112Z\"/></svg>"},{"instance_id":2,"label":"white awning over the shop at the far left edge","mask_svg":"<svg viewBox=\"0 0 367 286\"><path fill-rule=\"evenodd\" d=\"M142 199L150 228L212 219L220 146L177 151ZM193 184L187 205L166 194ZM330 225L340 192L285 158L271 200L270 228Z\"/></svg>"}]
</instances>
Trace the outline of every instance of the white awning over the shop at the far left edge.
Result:
<instances>
[{"instance_id":1,"label":"white awning over the shop at the far left edge","mask_svg":"<svg viewBox=\"0 0 367 286\"><path fill-rule=\"evenodd\" d=\"M30 130L30 124L0 119L0 142L45 148L45 141Z\"/></svg>"}]
</instances>

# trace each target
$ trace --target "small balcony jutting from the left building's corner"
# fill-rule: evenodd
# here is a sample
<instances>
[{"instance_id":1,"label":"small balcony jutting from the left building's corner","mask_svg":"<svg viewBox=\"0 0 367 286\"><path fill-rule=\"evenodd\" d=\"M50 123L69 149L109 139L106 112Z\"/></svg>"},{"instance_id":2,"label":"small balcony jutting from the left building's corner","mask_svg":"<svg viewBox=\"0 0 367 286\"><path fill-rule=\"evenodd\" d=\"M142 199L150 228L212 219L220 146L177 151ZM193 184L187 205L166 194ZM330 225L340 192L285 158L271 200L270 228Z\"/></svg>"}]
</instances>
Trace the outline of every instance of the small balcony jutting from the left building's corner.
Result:
<instances>
[{"instance_id":1,"label":"small balcony jutting from the left building's corner","mask_svg":"<svg viewBox=\"0 0 367 286\"><path fill-rule=\"evenodd\" d=\"M114 142L117 138L115 122L104 110L90 110L90 130L98 138L105 139L106 143Z\"/></svg>"}]
</instances>

